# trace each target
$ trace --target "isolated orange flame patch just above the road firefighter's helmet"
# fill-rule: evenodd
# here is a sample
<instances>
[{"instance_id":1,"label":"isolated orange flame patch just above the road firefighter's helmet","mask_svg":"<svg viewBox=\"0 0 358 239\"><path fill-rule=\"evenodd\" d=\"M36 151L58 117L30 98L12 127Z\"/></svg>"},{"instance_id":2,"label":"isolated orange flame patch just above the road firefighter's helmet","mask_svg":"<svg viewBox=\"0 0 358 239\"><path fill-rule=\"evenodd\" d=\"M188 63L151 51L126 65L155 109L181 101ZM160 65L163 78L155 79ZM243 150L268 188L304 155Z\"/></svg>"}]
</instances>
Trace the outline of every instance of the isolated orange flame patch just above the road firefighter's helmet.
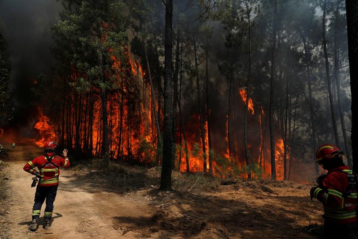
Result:
<instances>
[{"instance_id":1,"label":"isolated orange flame patch just above the road firefighter's helmet","mask_svg":"<svg viewBox=\"0 0 358 239\"><path fill-rule=\"evenodd\" d=\"M55 132L50 123L50 119L43 114L42 110L39 107L38 107L38 112L39 112L39 120L34 125L34 128L39 131L39 139L35 140L35 143L39 147L43 147L46 141L55 139Z\"/></svg>"}]
</instances>

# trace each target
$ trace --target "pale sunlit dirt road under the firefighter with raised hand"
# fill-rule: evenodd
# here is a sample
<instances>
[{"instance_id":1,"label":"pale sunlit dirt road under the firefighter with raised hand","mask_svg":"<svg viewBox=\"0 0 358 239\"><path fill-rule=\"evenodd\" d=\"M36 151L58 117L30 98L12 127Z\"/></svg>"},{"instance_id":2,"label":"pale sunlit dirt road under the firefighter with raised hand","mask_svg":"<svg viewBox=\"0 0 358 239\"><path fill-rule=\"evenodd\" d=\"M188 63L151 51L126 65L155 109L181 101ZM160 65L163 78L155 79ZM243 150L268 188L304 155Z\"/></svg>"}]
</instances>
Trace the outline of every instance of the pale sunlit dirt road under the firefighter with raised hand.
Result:
<instances>
[{"instance_id":1,"label":"pale sunlit dirt road under the firefighter with raised hand","mask_svg":"<svg viewBox=\"0 0 358 239\"><path fill-rule=\"evenodd\" d=\"M23 166L42 150L34 145L17 145L10 152L9 166L5 171L10 175L11 204L9 208L12 239L24 238L142 238L133 229L137 220L150 218L149 200L131 198L130 195L102 190L96 182L83 181L72 171L61 170L60 184L56 200L52 226L42 228L44 205L40 215L40 227L35 232L28 231L34 200L35 188L31 188L31 175L23 171ZM116 219L117 218L117 219ZM118 218L121 219L118 226ZM150 230L150 229L148 229ZM150 233L151 238L163 236ZM171 237L173 238L173 237Z\"/></svg>"}]
</instances>

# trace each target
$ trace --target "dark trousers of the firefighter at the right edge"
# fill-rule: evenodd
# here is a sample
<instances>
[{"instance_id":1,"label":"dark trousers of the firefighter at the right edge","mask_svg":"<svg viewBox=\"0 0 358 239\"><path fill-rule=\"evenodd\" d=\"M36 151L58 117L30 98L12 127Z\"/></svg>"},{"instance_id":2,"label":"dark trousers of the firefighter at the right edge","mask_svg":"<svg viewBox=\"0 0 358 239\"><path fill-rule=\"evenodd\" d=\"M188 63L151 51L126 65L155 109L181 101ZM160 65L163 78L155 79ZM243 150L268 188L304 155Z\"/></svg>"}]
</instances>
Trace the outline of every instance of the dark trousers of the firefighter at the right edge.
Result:
<instances>
[{"instance_id":1,"label":"dark trousers of the firefighter at the right edge","mask_svg":"<svg viewBox=\"0 0 358 239\"><path fill-rule=\"evenodd\" d=\"M358 223L332 224L324 222L324 239L357 239Z\"/></svg>"}]
</instances>

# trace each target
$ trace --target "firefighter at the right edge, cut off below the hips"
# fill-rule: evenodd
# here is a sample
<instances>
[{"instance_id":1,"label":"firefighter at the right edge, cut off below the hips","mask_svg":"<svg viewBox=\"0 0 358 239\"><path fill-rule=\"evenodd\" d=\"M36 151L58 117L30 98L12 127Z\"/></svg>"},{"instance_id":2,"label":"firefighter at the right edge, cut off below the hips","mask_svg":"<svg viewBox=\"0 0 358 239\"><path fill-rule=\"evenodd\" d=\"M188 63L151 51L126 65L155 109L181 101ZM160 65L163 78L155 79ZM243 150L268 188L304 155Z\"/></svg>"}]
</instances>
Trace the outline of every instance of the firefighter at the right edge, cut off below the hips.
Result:
<instances>
[{"instance_id":1,"label":"firefighter at the right edge, cut off below the hips","mask_svg":"<svg viewBox=\"0 0 358 239\"><path fill-rule=\"evenodd\" d=\"M357 175L345 166L342 150L332 144L317 149L316 162L327 172L310 190L311 199L323 204L324 238L357 238Z\"/></svg>"}]
</instances>

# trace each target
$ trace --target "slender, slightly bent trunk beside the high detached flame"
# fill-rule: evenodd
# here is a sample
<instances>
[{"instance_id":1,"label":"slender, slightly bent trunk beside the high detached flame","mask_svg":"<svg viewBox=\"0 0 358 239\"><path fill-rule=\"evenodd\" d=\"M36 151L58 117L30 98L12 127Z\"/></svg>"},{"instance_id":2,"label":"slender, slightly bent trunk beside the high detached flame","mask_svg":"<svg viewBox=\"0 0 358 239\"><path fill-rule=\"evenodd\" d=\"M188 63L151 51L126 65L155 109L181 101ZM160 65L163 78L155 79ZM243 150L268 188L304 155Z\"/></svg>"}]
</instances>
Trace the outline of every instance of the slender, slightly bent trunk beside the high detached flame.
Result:
<instances>
[{"instance_id":1,"label":"slender, slightly bent trunk beside the high detached flame","mask_svg":"<svg viewBox=\"0 0 358 239\"><path fill-rule=\"evenodd\" d=\"M247 144L247 111L248 111L248 102L250 85L251 85L251 29L250 29L250 13L251 9L248 6L248 2L245 1L246 4L246 14L247 14L247 25L248 25L248 72L247 72L247 90L246 90L246 105L245 105L245 113L244 113L244 145L245 145L245 160L247 166L247 178L251 179L251 168L250 168L250 151L248 149Z\"/></svg>"}]
</instances>

